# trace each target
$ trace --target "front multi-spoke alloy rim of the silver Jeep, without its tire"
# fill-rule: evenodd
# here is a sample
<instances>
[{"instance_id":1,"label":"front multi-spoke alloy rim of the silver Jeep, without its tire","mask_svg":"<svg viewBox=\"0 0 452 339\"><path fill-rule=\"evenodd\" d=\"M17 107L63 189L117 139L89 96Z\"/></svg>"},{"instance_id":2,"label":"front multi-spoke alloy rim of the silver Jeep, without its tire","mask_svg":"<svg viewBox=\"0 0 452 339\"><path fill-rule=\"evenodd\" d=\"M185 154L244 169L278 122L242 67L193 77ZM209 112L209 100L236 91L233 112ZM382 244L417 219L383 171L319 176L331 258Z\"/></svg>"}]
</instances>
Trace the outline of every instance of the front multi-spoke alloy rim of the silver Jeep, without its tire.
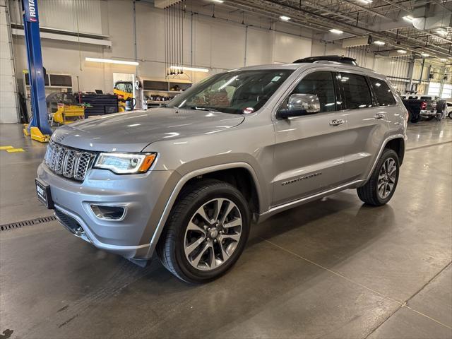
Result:
<instances>
[{"instance_id":1,"label":"front multi-spoke alloy rim of the silver Jeep, without its tire","mask_svg":"<svg viewBox=\"0 0 452 339\"><path fill-rule=\"evenodd\" d=\"M235 203L216 198L204 203L189 220L184 235L187 260L198 270L225 263L239 244L242 215Z\"/></svg>"}]
</instances>

